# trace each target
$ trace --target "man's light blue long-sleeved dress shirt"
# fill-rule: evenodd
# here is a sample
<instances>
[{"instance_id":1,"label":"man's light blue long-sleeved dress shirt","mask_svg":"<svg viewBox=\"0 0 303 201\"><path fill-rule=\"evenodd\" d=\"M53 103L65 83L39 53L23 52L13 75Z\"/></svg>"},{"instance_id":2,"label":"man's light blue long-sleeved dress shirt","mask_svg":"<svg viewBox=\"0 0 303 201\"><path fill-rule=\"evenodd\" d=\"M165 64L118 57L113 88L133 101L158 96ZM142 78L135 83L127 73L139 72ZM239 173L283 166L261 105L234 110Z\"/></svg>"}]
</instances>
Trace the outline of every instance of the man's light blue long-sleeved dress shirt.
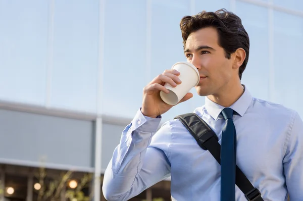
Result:
<instances>
[{"instance_id":1,"label":"man's light blue long-sleeved dress shirt","mask_svg":"<svg viewBox=\"0 0 303 201\"><path fill-rule=\"evenodd\" d=\"M218 135L225 121L224 107L206 97L194 113ZM264 200L303 200L303 122L281 105L254 98L245 87L230 107L238 114L236 164L257 187ZM171 120L157 131L161 118L137 112L122 133L104 176L103 193L108 200L128 200L171 176L172 200L220 201L220 165L201 149L178 121ZM156 132L157 131L157 132ZM245 201L236 188L236 200Z\"/></svg>"}]
</instances>

